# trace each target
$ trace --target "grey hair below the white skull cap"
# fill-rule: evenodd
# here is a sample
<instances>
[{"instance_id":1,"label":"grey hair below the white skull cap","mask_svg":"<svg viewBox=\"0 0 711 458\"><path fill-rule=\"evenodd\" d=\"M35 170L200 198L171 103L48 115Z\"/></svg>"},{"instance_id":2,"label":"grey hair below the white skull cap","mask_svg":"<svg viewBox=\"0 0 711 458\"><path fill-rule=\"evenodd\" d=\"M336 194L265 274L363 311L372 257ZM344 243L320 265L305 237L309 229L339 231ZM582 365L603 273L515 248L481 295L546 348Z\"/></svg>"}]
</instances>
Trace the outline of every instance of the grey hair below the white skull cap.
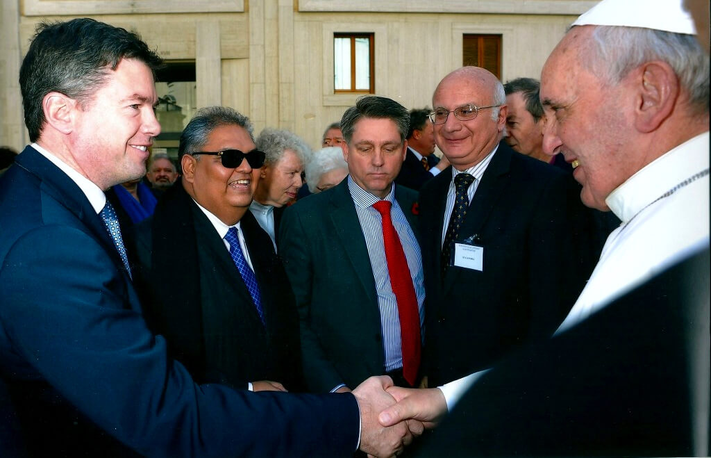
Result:
<instances>
[{"instance_id":1,"label":"grey hair below the white skull cap","mask_svg":"<svg viewBox=\"0 0 711 458\"><path fill-rule=\"evenodd\" d=\"M639 27L597 26L589 46L587 68L615 84L631 70L651 60L673 68L680 86L688 92L692 110L709 112L709 55L693 35Z\"/></svg>"}]
</instances>

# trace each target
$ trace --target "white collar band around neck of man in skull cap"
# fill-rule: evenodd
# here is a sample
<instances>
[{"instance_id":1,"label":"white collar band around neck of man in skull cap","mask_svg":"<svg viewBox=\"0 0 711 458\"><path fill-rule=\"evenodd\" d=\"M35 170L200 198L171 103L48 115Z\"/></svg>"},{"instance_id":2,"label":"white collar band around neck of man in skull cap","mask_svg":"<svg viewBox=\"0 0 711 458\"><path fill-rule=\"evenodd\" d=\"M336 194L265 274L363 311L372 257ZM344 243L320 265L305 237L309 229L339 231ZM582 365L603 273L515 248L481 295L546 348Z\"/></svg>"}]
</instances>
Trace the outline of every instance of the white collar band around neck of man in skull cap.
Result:
<instances>
[{"instance_id":1,"label":"white collar band around neck of man in skull cap","mask_svg":"<svg viewBox=\"0 0 711 458\"><path fill-rule=\"evenodd\" d=\"M709 132L704 132L637 171L612 191L605 203L627 223L663 193L708 167Z\"/></svg>"}]
</instances>

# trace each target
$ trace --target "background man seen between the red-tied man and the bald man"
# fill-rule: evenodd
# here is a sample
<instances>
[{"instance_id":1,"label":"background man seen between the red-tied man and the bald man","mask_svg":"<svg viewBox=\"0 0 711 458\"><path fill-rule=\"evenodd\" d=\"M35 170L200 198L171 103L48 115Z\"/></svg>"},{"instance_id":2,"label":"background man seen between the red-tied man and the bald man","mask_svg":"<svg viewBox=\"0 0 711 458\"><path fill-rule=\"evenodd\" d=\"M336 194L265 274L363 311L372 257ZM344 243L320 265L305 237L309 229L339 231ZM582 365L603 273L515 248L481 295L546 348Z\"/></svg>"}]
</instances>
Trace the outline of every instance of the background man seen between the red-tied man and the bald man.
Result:
<instances>
[{"instance_id":1,"label":"background man seen between the red-tied man and the bald man","mask_svg":"<svg viewBox=\"0 0 711 458\"><path fill-rule=\"evenodd\" d=\"M402 161L395 183L419 190L425 181L447 169L449 161L434 155L434 129L427 108L410 110L410 129L407 132L407 154Z\"/></svg>"}]
</instances>

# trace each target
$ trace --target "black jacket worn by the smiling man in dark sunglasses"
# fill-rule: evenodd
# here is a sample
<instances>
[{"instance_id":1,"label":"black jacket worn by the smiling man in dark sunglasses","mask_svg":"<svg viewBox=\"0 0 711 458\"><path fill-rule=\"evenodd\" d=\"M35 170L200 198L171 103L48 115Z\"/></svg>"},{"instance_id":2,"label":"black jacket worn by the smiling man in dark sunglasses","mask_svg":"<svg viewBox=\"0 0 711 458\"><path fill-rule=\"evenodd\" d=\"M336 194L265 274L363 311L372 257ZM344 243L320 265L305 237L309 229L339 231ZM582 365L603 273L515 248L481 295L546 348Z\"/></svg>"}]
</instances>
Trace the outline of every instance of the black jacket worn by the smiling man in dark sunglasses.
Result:
<instances>
[{"instance_id":1,"label":"black jacket worn by the smiling man in dark sunglasses","mask_svg":"<svg viewBox=\"0 0 711 458\"><path fill-rule=\"evenodd\" d=\"M220 235L180 183L135 228L134 283L146 321L198 383L247 389L247 382L275 380L299 390L299 321L289 280L252 212L240 230L266 326Z\"/></svg>"}]
</instances>

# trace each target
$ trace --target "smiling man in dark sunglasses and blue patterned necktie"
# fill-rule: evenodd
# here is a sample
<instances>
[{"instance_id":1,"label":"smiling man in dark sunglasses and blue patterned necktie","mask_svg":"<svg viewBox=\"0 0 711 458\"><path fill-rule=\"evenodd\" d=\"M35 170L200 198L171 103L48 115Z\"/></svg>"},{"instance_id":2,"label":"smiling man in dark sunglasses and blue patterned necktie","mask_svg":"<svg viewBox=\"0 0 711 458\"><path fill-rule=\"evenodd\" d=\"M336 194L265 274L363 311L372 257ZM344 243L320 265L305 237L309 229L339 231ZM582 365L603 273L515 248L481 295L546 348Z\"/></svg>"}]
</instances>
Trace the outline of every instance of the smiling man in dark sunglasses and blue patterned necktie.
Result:
<instances>
[{"instance_id":1,"label":"smiling man in dark sunglasses and blue patterned necktie","mask_svg":"<svg viewBox=\"0 0 711 458\"><path fill-rule=\"evenodd\" d=\"M248 211L264 162L252 135L250 120L228 107L191 119L178 147L181 183L136 228L134 283L151 329L198 383L299 390L294 297L272 240ZM228 168L201 154L225 149L248 151L249 161ZM232 228L244 264L235 264L235 247L226 246ZM255 278L256 292L245 276Z\"/></svg>"}]
</instances>

